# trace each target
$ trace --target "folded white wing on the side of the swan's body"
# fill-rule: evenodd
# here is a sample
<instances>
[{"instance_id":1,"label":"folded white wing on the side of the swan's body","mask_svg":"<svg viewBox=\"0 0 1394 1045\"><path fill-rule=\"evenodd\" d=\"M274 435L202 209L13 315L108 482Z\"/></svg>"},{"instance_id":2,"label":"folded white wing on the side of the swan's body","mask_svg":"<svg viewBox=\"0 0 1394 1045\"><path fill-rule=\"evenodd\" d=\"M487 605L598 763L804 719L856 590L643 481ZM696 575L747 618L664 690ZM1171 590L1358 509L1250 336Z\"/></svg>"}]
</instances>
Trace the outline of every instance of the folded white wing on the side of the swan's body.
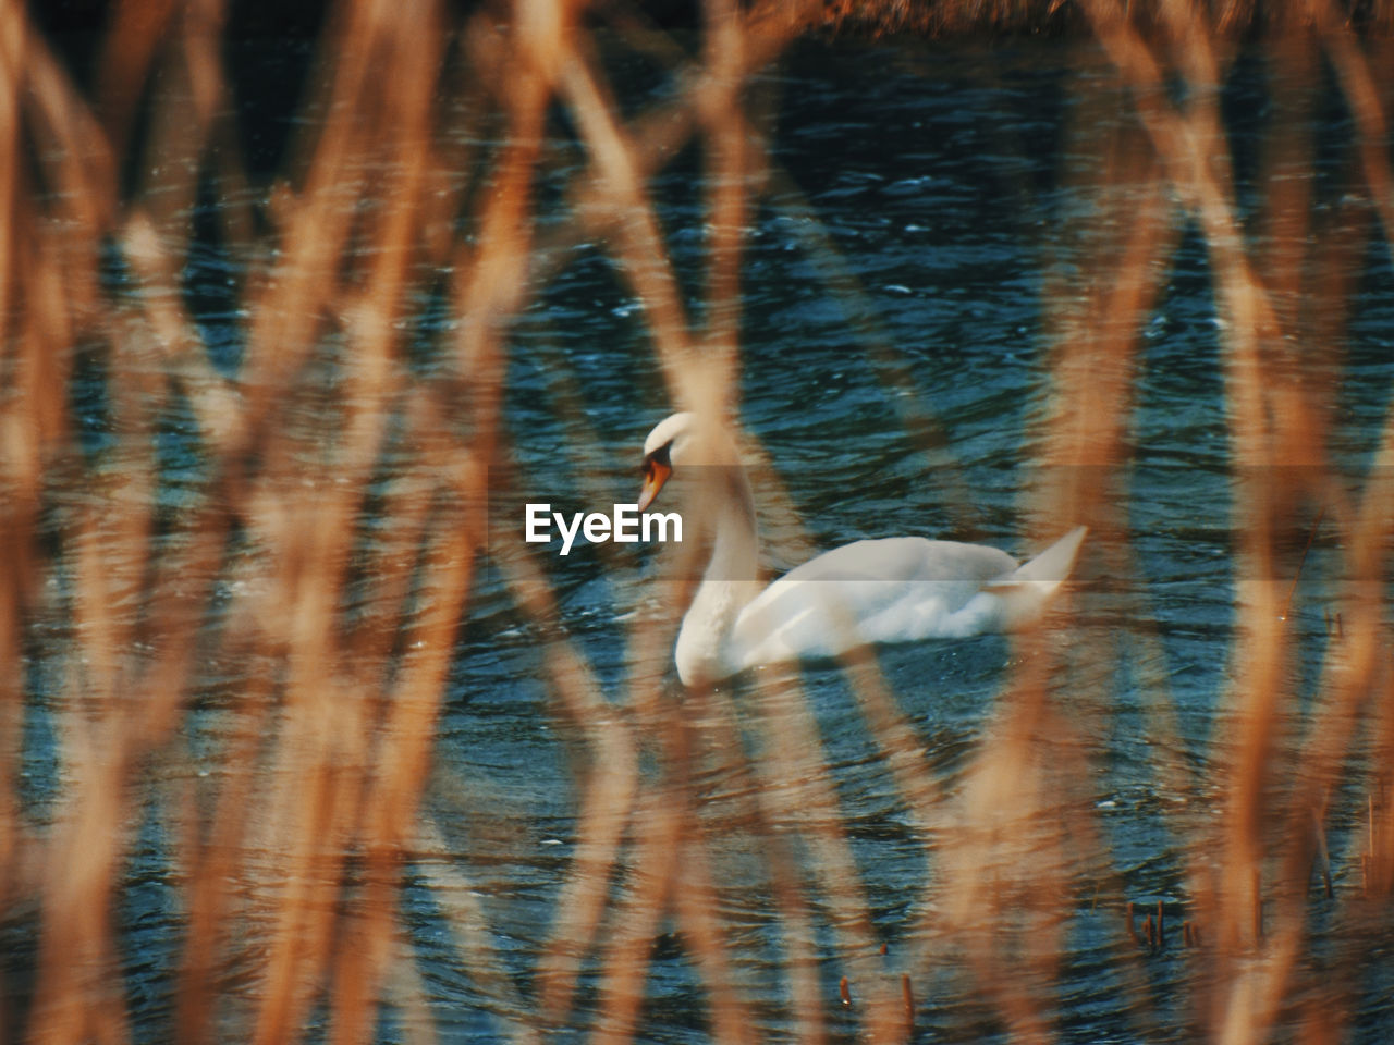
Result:
<instances>
[{"instance_id":1,"label":"folded white wing on the side of the swan's body","mask_svg":"<svg viewBox=\"0 0 1394 1045\"><path fill-rule=\"evenodd\" d=\"M733 659L750 666L991 631L999 601L983 585L1015 568L1006 552L983 545L919 536L843 545L790 570L740 612Z\"/></svg>"}]
</instances>

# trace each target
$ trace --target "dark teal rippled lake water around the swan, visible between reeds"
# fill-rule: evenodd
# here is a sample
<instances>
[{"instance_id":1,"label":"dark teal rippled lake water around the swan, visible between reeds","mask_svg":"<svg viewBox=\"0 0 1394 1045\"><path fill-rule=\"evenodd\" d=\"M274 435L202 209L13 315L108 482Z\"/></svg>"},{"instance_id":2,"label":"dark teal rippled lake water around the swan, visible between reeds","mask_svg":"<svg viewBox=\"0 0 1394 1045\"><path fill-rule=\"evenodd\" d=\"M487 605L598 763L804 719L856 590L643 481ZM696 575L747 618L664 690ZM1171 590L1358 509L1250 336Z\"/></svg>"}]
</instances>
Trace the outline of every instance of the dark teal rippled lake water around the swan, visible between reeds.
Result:
<instances>
[{"instance_id":1,"label":"dark teal rippled lake water around the swan, visible between reeds","mask_svg":"<svg viewBox=\"0 0 1394 1045\"><path fill-rule=\"evenodd\" d=\"M290 52L248 47L241 63L276 70L304 59ZM627 110L671 91L647 60L625 57L616 47L608 61ZM1333 237L1370 229L1369 248L1347 255L1354 266L1349 298L1333 304L1344 309L1345 322L1313 325L1340 330L1338 343L1323 346L1315 368L1338 389L1330 447L1348 485L1358 488L1394 386L1394 268L1368 210L1349 199L1355 189L1345 144L1354 131L1331 77L1323 72L1295 86L1269 77L1262 57L1245 57L1224 95L1245 215L1262 213L1269 199L1266 149L1284 117L1273 99L1282 95L1278 88L1291 88L1309 93L1319 146L1305 174L1320 219L1316 227ZM1100 174L1111 128L1126 120L1107 65L1092 49L1059 42L966 49L804 43L763 71L753 93L769 113L763 130L774 166L750 212L742 268L739 419L767 458L756 472L763 564L778 571L814 549L901 534L991 543L1025 557L1075 521L1034 513L1039 488L1050 482L1037 464L1059 316L1107 276L1097 256L1128 234L1119 219L1133 196L1140 212L1154 185ZM280 116L250 113L248 141L265 135L275 142L284 134ZM563 222L560 191L583 162L562 121L552 132L556 156L538 196L544 231ZM255 148L251 159L254 167L261 162ZM689 148L672 157L651 188L676 277L700 325L710 242L700 153ZM206 216L219 205L215 195L201 208ZM1199 229L1179 208L1170 210L1163 229L1174 245L1158 251L1164 272L1142 323L1129 450L1118 470L1121 483L1112 488L1136 571L1112 574L1118 560L1086 546L1071 631L1054 637L1064 663L1055 711L1069 727L1043 743L1062 745L1048 758L1079 758L1082 772L1087 766L1093 773L1061 794L1069 808L1059 815L1062 822L1087 822L1094 836L1079 840L1079 864L1064 872L1050 903L1039 896L1022 901L1023 924L1034 925L1040 915L1040 932L1058 932L1052 971L1030 966L1029 936L1004 947L1022 964L1008 960L999 970L1027 985L1046 977L1041 1010L1059 1039L1071 1042L1192 1038L1197 978L1206 966L1182 946L1177 927L1193 915L1188 875L1196 825L1224 812L1216 779L1224 766L1225 697L1235 672L1235 594L1236 581L1249 578L1236 578L1234 567L1236 478L1223 322ZM1262 235L1255 233L1256 255L1263 255ZM441 1041L513 1039L523 1037L520 1027L537 1024L538 968L555 939L559 907L570 901L566 883L583 842L580 783L597 772L594 751L560 713L549 683L560 634L584 656L606 706L623 708L633 699L630 677L638 663L631 620L672 612L672 589L655 581L658 549L577 542L562 557L555 546L519 546L512 517L505 518L523 500L548 500L567 513L633 502L644 435L676 408L666 398L643 307L611 247L594 240L551 249L555 254L538 259L548 279L535 287L507 340L505 421L516 475L512 489L498 492L492 555L480 566L438 723L421 851L406 862L406 946L417 956ZM237 265L215 244L195 242L185 274L215 362L234 379L245 316L223 288ZM1302 308L1295 298L1278 304ZM438 298L422 294L413 323L413 380L428 382L449 366L441 343L454 320ZM120 438L106 424L100 368L79 372L74 404L88 453L100 458ZM942 438L934 451L912 435L926 418L928 431ZM160 436L167 511L178 511L181 497L205 481L191 425L188 417L170 418ZM390 468L392 453L385 460ZM371 541L371 517L364 529ZM1289 670L1296 676L1296 716L1310 699L1330 641L1340 542L1328 527L1316 528L1294 603ZM514 605L507 563L519 555L530 556L551 584L560 631ZM1288 581L1276 578L1284 588ZM1110 652L1082 652L1092 649ZM61 791L52 765L57 726L47 701L64 684L63 655L61 642L45 645L40 638L31 658L36 695L25 773L36 811ZM1030 670L1023 658L1032 656L1046 655L1023 653L999 635L878 653L927 776L949 807L967 801L970 768L1009 718L1011 704L1001 695ZM236 659L217 666L224 669L209 691L236 691L240 672L252 670ZM959 946L924 929L951 917L952 896L934 890L937 876L953 874L952 854L940 847L949 844L940 839L951 836L926 833L917 823L842 672L814 665L802 681L821 745L806 754L827 768L875 940L888 945L884 957L863 954L849 964L849 945L834 929L839 908L822 895L827 879L810 869L821 844L815 832L800 835L781 823L785 807L778 801L765 819L750 814L751 789L776 783L758 773L761 752L769 758L774 743L758 687L735 686L729 704L687 702L669 670L661 697L664 708L683 709L690 740L703 752L684 787L704 825L715 917L726 934L730 975L749 1005L750 1035L789 1039L800 1027L786 966L788 928L776 917L778 876L768 865L783 846L803 868L796 879L813 897L810 947L831 1039L859 1032L861 998L881 989L867 986L868 978L899 991L906 971L914 982L914 1039L1006 1041L1001 999L988 992L990 977L972 968L967 952L924 954L926 946ZM1082 694L1078 702L1069 699L1071 687ZM1170 701L1174 734L1158 727L1158 691ZM229 706L236 705L213 701L190 713L184 729L194 752L191 772L199 752L212 759L234 729ZM1083 757L1062 737L1082 745ZM665 777L661 744L640 741L640 748L643 810L645 794L657 798L675 784ZM1164 769L1172 764L1185 768L1185 789ZM1338 897L1359 888L1362 796L1352 791L1331 818ZM180 869L160 808L152 800L134 829L118 903L125 998L139 1039L170 1034L170 982L184 918ZM772 822L783 840L763 835ZM640 888L641 836L633 828L620 849L609 883L611 920ZM268 858L275 862L275 854ZM1034 857L1023 858L1029 864ZM1160 954L1139 956L1128 940L1119 910L1129 900L1139 911L1164 904L1172 935ZM461 907L473 911L466 918L478 934L473 942L461 939L452 915ZM1315 915L1317 924L1326 917L1344 924L1348 913ZM618 932L613 921L606 927ZM1316 932L1309 960L1349 968L1354 938L1337 932L1331 939L1347 942L1323 942ZM461 959L461 950L480 946L502 975L482 977ZM694 947L671 920L655 927L652 964L641 981L638 1039L711 1039L712 999ZM256 982L255 961L247 961L229 970L224 989L233 996ZM24 964L22 957L11 959L11 970ZM1349 1039L1384 1041L1394 1019L1387 942L1355 967L1362 980L1345 995ZM852 1006L838 999L842 975L852 981ZM604 1007L604 980L599 957L588 952L577 1002L565 1028L555 1031L558 1039L585 1037ZM1282 1039L1296 1035L1299 1016L1306 1019L1301 1000ZM407 1037L410 1020L389 1009L378 1038Z\"/></svg>"}]
</instances>

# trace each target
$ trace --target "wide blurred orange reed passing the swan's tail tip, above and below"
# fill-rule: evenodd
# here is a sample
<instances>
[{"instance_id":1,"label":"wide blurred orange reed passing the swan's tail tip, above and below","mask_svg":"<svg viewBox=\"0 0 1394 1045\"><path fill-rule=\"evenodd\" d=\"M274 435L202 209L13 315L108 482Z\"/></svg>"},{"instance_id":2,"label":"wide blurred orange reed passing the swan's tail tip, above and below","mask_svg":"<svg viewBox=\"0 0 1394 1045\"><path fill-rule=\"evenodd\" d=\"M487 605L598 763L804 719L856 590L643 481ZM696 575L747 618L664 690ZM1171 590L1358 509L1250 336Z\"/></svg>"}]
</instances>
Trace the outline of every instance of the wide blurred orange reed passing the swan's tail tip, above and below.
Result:
<instances>
[{"instance_id":1,"label":"wide blurred orange reed passing the swan's tail tip, above and below","mask_svg":"<svg viewBox=\"0 0 1394 1045\"><path fill-rule=\"evenodd\" d=\"M1094 134L1090 102L1105 99L1108 88L1103 86L1085 100L1076 116L1080 134ZM1092 216L1094 224L1076 226L1089 242L1080 254L1093 268L1072 274L1068 287L1046 290L1054 309L1054 389L1037 513L1051 521L1052 531L1062 521L1087 522L1090 548L1115 560L1105 571L1126 577L1135 567L1117 562L1126 557L1117 474L1128 457L1135 343L1156 301L1157 273L1164 270L1175 234L1164 231L1167 195L1153 163L1138 149L1135 132L1114 121L1094 153L1107 156L1108 163L1083 177L1097 180L1093 195L1104 202ZM1118 237L1118 226L1129 234ZM1037 529L1046 535L1043 524L1037 522ZM1026 635L1019 645L1030 666L998 698L999 722L970 769L945 837L944 867L935 876L942 881L935 888L951 911L949 932L966 945L979 989L994 999L1013 1034L1044 1041L1052 1037L1047 1006L1062 949L1064 922L1057 908L1071 892L1072 876L1097 874L1104 847L1086 818L1059 812L1072 808L1069 793L1087 787L1085 782L1094 772L1085 754L1089 745L1054 708L1046 684L1052 659L1040 637ZM1117 652L1086 648L1076 658L1107 660L1110 655ZM1072 702L1079 698L1072 694ZM1097 709L1107 706L1105 694L1097 694L1096 701ZM1164 747L1177 751L1165 697L1153 713ZM1039 744L1079 758L1047 766L1034 752ZM1184 766L1172 765L1168 775L1174 787L1185 787ZM1079 800L1087 797L1086 791ZM1140 993L1139 970L1125 973L1124 981ZM1147 1020L1143 1013L1133 1016Z\"/></svg>"}]
</instances>

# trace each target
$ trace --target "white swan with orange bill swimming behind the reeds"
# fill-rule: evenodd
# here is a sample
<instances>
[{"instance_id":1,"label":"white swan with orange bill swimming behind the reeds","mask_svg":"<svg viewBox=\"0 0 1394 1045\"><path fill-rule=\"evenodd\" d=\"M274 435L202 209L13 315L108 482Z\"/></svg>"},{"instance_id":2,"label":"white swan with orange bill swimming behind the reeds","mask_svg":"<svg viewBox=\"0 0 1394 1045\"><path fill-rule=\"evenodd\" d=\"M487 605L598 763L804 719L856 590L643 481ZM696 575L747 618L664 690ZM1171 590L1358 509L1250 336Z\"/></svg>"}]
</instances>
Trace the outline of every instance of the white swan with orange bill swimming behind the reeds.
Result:
<instances>
[{"instance_id":1,"label":"white swan with orange bill swimming behind the reeds","mask_svg":"<svg viewBox=\"0 0 1394 1045\"><path fill-rule=\"evenodd\" d=\"M673 659L684 686L758 665L836 656L873 642L963 638L1034 619L1069 575L1075 527L1026 564L986 545L892 536L825 552L760 589L754 500L730 438L694 414L644 440L644 511L679 465L703 468L711 560L683 617Z\"/></svg>"}]
</instances>

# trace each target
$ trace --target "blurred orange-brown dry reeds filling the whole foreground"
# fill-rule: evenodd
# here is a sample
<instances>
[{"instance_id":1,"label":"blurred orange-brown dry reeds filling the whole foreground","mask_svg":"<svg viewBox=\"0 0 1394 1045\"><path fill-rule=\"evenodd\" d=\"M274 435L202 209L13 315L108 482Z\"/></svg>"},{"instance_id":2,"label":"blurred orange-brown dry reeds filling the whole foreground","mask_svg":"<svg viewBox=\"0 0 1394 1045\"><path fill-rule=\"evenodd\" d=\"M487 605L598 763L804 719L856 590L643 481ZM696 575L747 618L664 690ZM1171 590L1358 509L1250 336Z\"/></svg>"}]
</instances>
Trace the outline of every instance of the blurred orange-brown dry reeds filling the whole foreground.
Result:
<instances>
[{"instance_id":1,"label":"blurred orange-brown dry reeds filling the whole foreground","mask_svg":"<svg viewBox=\"0 0 1394 1045\"><path fill-rule=\"evenodd\" d=\"M1103 752L1071 706L1107 708L1108 694L1065 681L1108 677L1080 662L1126 658L1121 641L1061 651L1048 630L1022 635L1030 655L1015 660L949 791L875 665L849 662L856 706L926 868L917 914L896 928L887 957L797 680L761 677L744 718L723 691L665 697L671 614L634 621L633 670L622 692L605 692L584 652L555 637L555 595L527 557L506 556L500 568L519 610L553 635L539 656L579 757L574 854L524 982L495 953L468 874L418 815L487 542L489 477L498 486L510 474L510 322L552 274L559 244L602 238L644 305L671 401L735 414L742 353L751 350L740 272L753 208L778 196L815 217L769 150L772 116L749 91L750 75L829 17L894 24L899 8L885 8L710 0L690 53L620 7L530 0L502 17L460 17L434 0L344 0L308 81L302 110L312 118L259 192L240 155L223 0L114 4L91 95L21 6L0 7L0 895L11 929L36 932L32 968L11 968L6 981L6 1037L135 1037L114 925L152 793L173 835L171 917L181 931L169 1025L181 1042L279 1042L312 1024L333 1041L364 1041L383 1002L406 1014L404 1037L434 1039L403 914L408 869L439 897L453 960L491 999L502 1038L539 1041L583 1019L594 1039L643 1039L654 939L673 927L705 988L711 1035L754 1039L761 1002L722 904L721 839L732 825L760 840L783 1009L800 1041L909 1039L926 991L945 984L979 999L1013 1039L1057 1037L1080 878L1117 908L1117 977L1140 1037L1345 1035L1358 1016L1351 984L1370 934L1388 931L1394 889L1384 584L1394 417L1349 496L1333 478L1338 389L1326 379L1348 315L1344 280L1361 270L1370 240L1394 242L1394 52L1379 4L1355 11L1365 36L1330 3L1270 8L1262 24L1250 8L1181 0L1069 10L1101 45L1108 74L1078 88L1094 93L1066 134L1097 163L1071 177L1101 201L1117 199L1107 192L1117 185L1144 191L1126 212L1103 202L1071 230L1092 265L1076 279L1085 293L1047 273L1052 387L1037 464L1064 478L1043 483L1033 507L1087 522L1100 574L1138 577L1117 495L1126 489L1140 332L1177 249L1178 208L1209 254L1225 320L1225 424L1246 477L1232 529L1236 575L1253 580L1238 592L1231 713L1207 782L1177 754L1163 681L1147 687L1157 777L1178 794L1207 783L1221 810L1172 815L1189 903L1165 917L1184 917L1195 943L1179 1005L1153 998L1147 949L1126 943L1126 890L1089 801ZM926 26L948 31L980 28L981 18L1030 24L1037 8L933 11L942 18ZM620 114L598 24L671 63L672 100ZM1276 82L1312 82L1323 63L1334 70L1359 134L1355 187L1341 206L1370 219L1340 227L1362 234L1322 224L1303 177L1316 144L1299 118L1278 127L1263 157L1264 210L1239 216L1216 93L1238 28L1260 36L1285 74ZM1185 92L1172 89L1178 79ZM1288 111L1302 96L1274 104ZM1103 134L1087 118L1119 110L1133 118ZM574 128L587 166L569 189L570 223L542 230L533 194L551 162L555 113ZM471 145L484 138L499 144ZM704 325L677 286L648 188L690 141L710 187ZM213 365L181 286L198 235L210 234L195 235L191 219L209 177L226 194L213 234L240 266L244 358L234 378ZM1253 227L1274 249L1256 252ZM831 294L860 293L815 222L807 249ZM438 346L449 376L425 380L408 365L403 332L431 290L457 322ZM878 373L907 385L894 346L875 330L860 334ZM110 435L95 451L78 432L72 392L93 359L106 375ZM159 428L185 408L202 474L177 510L158 510ZM933 417L909 412L906 426L930 461L951 457ZM1317 695L1295 716L1288 603L1301 562L1291 534L1313 506L1338 535L1348 581ZM361 536L368 513L390 524L375 542ZM1132 612L1147 619L1140 598ZM1051 624L1071 627L1069 610ZM1138 641L1156 640L1144 630ZM61 666L57 691L38 691L33 659ZM191 750L191 723L215 667L238 681L217 698L230 725L209 764ZM36 718L56 733L57 783L43 803L21 786L33 743L26 720ZM714 747L698 720L718 723L725 743ZM658 766L647 776L645 757ZM719 804L693 786L714 758L743 782ZM460 782L466 815L485 815L489 793L487 780ZM1335 850L1328 832L1348 823L1352 794L1363 835ZM1328 897L1313 900L1313 864ZM1323 963L1308 960L1316 907L1327 927ZM1168 932L1175 947L1178 929ZM829 964L843 999L829 996ZM598 995L580 1017L587 970Z\"/></svg>"}]
</instances>

